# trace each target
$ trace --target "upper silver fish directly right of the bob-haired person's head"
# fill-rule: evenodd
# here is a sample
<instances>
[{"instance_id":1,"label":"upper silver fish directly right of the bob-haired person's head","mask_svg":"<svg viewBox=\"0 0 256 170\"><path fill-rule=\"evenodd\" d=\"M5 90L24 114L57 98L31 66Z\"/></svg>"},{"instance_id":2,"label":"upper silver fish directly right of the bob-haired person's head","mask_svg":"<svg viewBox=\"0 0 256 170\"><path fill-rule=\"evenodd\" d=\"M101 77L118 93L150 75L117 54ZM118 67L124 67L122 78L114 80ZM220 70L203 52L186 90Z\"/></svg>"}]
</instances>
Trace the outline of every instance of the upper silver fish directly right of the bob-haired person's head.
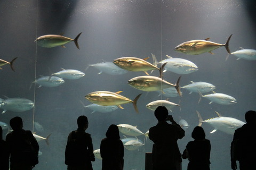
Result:
<instances>
[{"instance_id":1,"label":"upper silver fish directly right of the bob-haired person's head","mask_svg":"<svg viewBox=\"0 0 256 170\"><path fill-rule=\"evenodd\" d=\"M132 126L130 124L118 124L118 129L121 133L125 135L130 135L133 137L138 137L139 135L145 135L140 130L137 129L137 126Z\"/></svg>"}]
</instances>

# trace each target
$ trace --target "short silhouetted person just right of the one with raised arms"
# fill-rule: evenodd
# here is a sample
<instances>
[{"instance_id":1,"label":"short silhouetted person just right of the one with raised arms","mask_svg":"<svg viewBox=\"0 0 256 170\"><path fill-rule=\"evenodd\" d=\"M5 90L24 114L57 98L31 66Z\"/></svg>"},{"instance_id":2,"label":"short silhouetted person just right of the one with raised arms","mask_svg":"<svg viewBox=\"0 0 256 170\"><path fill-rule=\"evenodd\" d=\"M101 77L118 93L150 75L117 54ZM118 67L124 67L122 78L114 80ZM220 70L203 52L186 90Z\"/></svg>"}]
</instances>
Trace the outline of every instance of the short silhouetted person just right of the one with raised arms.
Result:
<instances>
[{"instance_id":1,"label":"short silhouetted person just right of the one with raised arms","mask_svg":"<svg viewBox=\"0 0 256 170\"><path fill-rule=\"evenodd\" d=\"M210 140L205 139L204 129L196 126L192 132L194 141L188 142L182 158L188 158L188 170L210 170Z\"/></svg>"}]
</instances>

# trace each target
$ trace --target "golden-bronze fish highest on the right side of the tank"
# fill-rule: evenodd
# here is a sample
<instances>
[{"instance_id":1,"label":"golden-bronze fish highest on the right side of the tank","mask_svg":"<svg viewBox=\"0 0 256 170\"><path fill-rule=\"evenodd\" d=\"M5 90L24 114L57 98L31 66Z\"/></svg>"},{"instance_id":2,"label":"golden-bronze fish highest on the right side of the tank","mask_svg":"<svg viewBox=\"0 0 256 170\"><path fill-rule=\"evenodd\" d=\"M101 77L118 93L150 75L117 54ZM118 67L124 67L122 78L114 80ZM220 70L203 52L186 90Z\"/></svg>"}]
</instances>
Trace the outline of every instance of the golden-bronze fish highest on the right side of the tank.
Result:
<instances>
[{"instance_id":1,"label":"golden-bronze fish highest on the right side of the tank","mask_svg":"<svg viewBox=\"0 0 256 170\"><path fill-rule=\"evenodd\" d=\"M175 47L175 51L179 53L184 53L188 55L199 55L203 53L212 53L212 50L217 49L219 47L224 46L227 50L227 52L230 54L229 50L229 40L232 35L228 37L228 40L226 44L218 44L218 43L213 43L211 41L208 41L210 38L206 38L205 40L191 40L191 41L186 41L185 43L182 43Z\"/></svg>"}]
</instances>

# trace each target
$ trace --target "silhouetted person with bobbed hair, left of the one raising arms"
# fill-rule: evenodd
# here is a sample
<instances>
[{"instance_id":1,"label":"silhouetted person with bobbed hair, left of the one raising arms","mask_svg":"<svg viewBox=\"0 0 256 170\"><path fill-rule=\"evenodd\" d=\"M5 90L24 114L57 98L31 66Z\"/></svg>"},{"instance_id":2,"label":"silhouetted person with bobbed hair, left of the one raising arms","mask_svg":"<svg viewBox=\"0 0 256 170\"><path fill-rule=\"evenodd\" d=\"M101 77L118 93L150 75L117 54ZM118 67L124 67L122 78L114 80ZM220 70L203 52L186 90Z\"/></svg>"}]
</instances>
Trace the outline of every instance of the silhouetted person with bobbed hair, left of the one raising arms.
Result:
<instances>
[{"instance_id":1,"label":"silhouetted person with bobbed hair, left of the one raising arms","mask_svg":"<svg viewBox=\"0 0 256 170\"><path fill-rule=\"evenodd\" d=\"M100 156L102 170L124 169L124 146L120 140L117 125L111 124L106 132L106 137L100 143Z\"/></svg>"}]
</instances>

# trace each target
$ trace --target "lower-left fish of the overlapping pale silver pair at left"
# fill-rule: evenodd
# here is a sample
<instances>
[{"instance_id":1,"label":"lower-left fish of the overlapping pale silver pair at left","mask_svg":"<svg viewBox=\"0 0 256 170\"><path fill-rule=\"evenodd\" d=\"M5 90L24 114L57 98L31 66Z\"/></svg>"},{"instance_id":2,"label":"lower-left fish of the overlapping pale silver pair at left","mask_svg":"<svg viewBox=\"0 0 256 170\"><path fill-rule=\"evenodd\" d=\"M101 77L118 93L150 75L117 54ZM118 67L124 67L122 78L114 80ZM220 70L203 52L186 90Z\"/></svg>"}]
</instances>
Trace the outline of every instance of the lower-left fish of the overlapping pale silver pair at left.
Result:
<instances>
[{"instance_id":1,"label":"lower-left fish of the overlapping pale silver pair at left","mask_svg":"<svg viewBox=\"0 0 256 170\"><path fill-rule=\"evenodd\" d=\"M41 78L37 79L33 83L39 84L39 87L42 87L42 86L44 86L44 87L57 87L57 86L60 86L61 84L63 84L64 82L65 81L62 78L59 78L59 77L44 76L44 77L41 77Z\"/></svg>"}]
</instances>

